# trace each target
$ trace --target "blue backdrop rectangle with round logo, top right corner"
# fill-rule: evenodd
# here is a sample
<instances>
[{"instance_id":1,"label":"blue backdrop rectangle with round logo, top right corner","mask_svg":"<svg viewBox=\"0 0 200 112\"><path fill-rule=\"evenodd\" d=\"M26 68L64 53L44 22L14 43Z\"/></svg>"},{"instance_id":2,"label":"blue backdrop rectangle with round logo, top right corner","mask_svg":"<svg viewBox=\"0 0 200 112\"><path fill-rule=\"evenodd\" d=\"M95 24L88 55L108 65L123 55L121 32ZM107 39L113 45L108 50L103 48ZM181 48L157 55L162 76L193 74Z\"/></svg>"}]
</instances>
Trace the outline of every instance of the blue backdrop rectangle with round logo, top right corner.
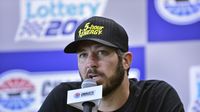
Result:
<instances>
[{"instance_id":1,"label":"blue backdrop rectangle with round logo, top right corner","mask_svg":"<svg viewBox=\"0 0 200 112\"><path fill-rule=\"evenodd\" d=\"M148 41L200 40L200 0L148 1Z\"/></svg>"}]
</instances>

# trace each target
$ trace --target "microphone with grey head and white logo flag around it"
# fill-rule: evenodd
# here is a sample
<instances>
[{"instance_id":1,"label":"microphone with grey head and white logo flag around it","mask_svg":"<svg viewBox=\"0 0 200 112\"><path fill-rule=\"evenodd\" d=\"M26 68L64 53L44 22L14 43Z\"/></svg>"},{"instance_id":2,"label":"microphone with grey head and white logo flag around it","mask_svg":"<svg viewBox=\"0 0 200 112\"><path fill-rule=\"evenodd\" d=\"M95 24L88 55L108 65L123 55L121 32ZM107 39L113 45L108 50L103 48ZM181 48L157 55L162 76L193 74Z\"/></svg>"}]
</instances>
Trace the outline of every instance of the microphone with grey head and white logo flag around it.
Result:
<instances>
[{"instance_id":1,"label":"microphone with grey head and white logo flag around it","mask_svg":"<svg viewBox=\"0 0 200 112\"><path fill-rule=\"evenodd\" d=\"M97 86L94 79L85 79L81 84L81 89L68 91L67 104L83 112L97 112L102 90L102 85Z\"/></svg>"}]
</instances>

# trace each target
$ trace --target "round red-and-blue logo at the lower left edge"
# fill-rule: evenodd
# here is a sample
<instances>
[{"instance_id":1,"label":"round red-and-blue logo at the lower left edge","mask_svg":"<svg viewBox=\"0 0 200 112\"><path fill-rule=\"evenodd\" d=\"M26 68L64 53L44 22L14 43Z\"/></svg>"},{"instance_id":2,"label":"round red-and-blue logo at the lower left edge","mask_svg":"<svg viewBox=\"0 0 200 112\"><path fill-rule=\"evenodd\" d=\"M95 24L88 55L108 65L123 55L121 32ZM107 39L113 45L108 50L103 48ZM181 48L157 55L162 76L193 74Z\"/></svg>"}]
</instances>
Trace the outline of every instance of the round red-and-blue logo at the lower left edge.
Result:
<instances>
[{"instance_id":1,"label":"round red-and-blue logo at the lower left edge","mask_svg":"<svg viewBox=\"0 0 200 112\"><path fill-rule=\"evenodd\" d=\"M20 112L35 101L35 86L24 72L1 78L0 91L0 111Z\"/></svg>"}]
</instances>

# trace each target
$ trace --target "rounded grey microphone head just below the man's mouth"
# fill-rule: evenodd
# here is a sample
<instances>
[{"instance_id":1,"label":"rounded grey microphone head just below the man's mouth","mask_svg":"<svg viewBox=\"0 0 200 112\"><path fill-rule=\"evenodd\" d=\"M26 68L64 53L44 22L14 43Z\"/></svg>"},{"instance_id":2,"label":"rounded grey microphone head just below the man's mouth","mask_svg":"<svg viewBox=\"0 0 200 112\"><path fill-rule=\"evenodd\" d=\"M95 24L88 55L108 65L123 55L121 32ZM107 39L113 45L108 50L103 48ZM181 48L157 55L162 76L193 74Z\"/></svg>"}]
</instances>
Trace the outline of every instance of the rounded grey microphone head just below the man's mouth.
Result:
<instances>
[{"instance_id":1,"label":"rounded grey microphone head just below the man's mouth","mask_svg":"<svg viewBox=\"0 0 200 112\"><path fill-rule=\"evenodd\" d=\"M97 86L97 83L94 79L85 79L81 84L81 88L87 88L93 86Z\"/></svg>"}]
</instances>

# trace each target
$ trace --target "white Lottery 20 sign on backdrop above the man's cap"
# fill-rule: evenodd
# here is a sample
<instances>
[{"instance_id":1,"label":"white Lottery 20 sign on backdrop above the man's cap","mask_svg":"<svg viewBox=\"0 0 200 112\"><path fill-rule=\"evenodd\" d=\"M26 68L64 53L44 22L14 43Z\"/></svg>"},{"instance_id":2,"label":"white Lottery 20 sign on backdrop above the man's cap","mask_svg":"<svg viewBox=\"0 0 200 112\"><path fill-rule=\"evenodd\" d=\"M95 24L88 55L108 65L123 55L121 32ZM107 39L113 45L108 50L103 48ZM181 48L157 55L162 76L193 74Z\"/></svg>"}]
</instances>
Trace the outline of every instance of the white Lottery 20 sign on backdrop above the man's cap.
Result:
<instances>
[{"instance_id":1,"label":"white Lottery 20 sign on backdrop above the man's cap","mask_svg":"<svg viewBox=\"0 0 200 112\"><path fill-rule=\"evenodd\" d=\"M86 18L103 15L107 0L20 0L16 41L68 40Z\"/></svg>"}]
</instances>

